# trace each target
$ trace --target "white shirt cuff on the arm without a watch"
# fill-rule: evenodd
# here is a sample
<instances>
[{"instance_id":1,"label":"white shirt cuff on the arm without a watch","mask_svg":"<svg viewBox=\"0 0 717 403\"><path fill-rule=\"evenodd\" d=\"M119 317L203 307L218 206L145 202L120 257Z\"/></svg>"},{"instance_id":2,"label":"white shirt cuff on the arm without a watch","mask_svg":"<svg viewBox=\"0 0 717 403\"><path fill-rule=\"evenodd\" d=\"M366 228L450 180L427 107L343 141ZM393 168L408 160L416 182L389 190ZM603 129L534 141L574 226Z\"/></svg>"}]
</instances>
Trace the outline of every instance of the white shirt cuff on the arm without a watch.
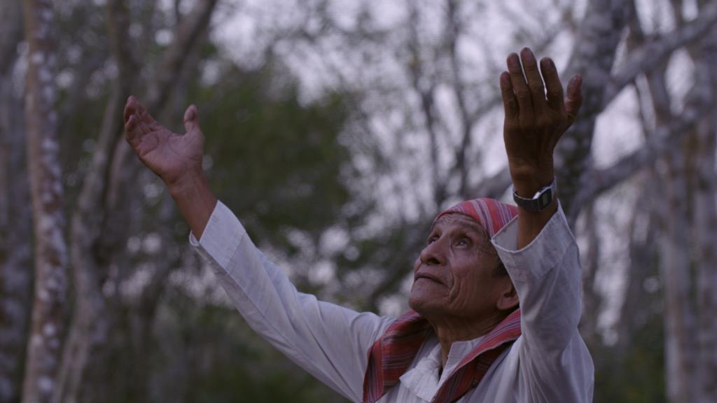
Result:
<instances>
[{"instance_id":1,"label":"white shirt cuff on the arm without a watch","mask_svg":"<svg viewBox=\"0 0 717 403\"><path fill-rule=\"evenodd\" d=\"M246 234L247 230L232 210L222 201L217 201L201 238L197 240L194 234L189 232L189 243L203 252L201 255L208 255L206 257L211 257L220 266L227 267Z\"/></svg>"}]
</instances>

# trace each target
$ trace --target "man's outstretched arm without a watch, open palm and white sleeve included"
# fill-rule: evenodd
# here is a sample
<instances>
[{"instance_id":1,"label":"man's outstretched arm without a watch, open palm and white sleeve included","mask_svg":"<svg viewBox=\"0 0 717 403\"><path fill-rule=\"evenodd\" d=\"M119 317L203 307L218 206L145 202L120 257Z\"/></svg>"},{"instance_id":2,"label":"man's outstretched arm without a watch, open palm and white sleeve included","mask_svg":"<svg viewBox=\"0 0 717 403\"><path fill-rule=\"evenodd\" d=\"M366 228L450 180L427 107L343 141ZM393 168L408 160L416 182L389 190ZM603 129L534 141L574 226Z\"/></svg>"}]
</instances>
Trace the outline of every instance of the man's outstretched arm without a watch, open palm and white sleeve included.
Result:
<instances>
[{"instance_id":1,"label":"man's outstretched arm without a watch, open palm and white sleeve included","mask_svg":"<svg viewBox=\"0 0 717 403\"><path fill-rule=\"evenodd\" d=\"M394 319L298 292L255 247L239 219L209 189L201 169L204 134L194 105L184 113L184 135L157 123L133 97L124 118L128 143L166 184L194 234L190 242L247 324L317 379L359 401L366 352Z\"/></svg>"}]
</instances>

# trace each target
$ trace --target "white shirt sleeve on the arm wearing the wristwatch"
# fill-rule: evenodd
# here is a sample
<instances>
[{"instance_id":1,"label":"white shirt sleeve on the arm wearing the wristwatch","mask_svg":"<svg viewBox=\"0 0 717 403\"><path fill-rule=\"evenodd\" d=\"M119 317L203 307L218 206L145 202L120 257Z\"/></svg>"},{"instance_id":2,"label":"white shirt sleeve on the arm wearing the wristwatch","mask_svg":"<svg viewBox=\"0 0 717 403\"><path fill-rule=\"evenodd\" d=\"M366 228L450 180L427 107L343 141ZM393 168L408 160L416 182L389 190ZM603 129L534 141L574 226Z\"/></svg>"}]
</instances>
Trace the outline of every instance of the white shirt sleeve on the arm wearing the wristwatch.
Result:
<instances>
[{"instance_id":1,"label":"white shirt sleeve on the arm wearing the wristwatch","mask_svg":"<svg viewBox=\"0 0 717 403\"><path fill-rule=\"evenodd\" d=\"M521 306L519 363L526 402L592 402L594 367L580 336L579 250L562 207L517 250L518 219L493 237Z\"/></svg>"}]
</instances>

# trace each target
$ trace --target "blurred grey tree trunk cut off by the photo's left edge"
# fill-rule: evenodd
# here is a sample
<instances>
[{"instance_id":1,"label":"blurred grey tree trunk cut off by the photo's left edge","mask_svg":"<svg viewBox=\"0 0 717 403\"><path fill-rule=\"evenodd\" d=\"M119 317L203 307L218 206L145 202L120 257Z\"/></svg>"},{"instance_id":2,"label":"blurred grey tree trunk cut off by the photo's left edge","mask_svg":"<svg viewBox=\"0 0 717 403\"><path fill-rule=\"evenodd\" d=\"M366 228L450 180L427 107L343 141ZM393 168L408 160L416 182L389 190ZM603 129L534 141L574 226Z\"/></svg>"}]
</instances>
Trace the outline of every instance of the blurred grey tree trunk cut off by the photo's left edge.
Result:
<instances>
[{"instance_id":1,"label":"blurred grey tree trunk cut off by the photo's left edge","mask_svg":"<svg viewBox=\"0 0 717 403\"><path fill-rule=\"evenodd\" d=\"M0 3L0 403L19 402L32 305L32 245L22 95L13 70L22 5Z\"/></svg>"}]
</instances>

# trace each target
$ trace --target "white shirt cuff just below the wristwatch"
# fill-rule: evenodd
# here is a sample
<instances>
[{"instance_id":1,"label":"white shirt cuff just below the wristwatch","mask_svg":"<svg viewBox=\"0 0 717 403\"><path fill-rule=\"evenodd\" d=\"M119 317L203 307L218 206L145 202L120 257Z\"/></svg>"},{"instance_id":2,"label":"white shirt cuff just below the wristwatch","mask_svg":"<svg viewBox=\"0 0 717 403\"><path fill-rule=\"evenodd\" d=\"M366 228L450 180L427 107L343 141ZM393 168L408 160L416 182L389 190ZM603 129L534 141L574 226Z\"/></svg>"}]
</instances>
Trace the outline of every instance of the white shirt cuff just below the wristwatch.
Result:
<instances>
[{"instance_id":1,"label":"white shirt cuff just below the wristwatch","mask_svg":"<svg viewBox=\"0 0 717 403\"><path fill-rule=\"evenodd\" d=\"M538 236L526 247L518 250L518 217L505 225L491 240L505 270L513 281L531 281L541 278L561 262L575 237L565 218L563 207L545 224Z\"/></svg>"}]
</instances>

